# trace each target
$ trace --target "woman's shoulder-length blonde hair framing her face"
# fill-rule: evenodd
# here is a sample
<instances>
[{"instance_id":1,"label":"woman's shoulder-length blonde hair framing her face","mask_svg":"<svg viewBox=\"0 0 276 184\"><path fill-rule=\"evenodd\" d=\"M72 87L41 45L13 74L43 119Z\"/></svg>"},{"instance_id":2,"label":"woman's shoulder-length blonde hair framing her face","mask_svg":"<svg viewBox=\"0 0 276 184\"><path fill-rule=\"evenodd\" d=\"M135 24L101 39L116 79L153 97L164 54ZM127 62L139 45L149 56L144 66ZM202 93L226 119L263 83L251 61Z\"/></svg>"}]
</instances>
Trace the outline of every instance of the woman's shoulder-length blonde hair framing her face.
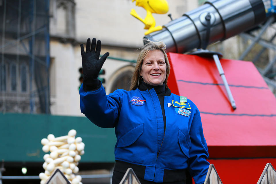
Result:
<instances>
[{"instance_id":1,"label":"woman's shoulder-length blonde hair framing her face","mask_svg":"<svg viewBox=\"0 0 276 184\"><path fill-rule=\"evenodd\" d=\"M166 75L164 83L166 84L166 88L168 88L167 83L168 83L168 76L170 74L170 64L169 64L168 56L166 53L166 45L162 41L154 42L154 41L147 40L147 39L144 39L143 42L145 43L145 45L142 47L142 50L139 53L139 56L137 58L137 63L134 68L134 71L133 71L133 76L131 78L130 90L134 90L134 89L138 88L138 86L140 85L141 80L139 79L139 75L140 75L140 70L143 65L143 61L144 61L145 57L147 56L147 54L149 53L149 51L153 51L153 50L160 50L164 54L165 63L166 63L166 67L167 67L166 68L167 75Z\"/></svg>"}]
</instances>

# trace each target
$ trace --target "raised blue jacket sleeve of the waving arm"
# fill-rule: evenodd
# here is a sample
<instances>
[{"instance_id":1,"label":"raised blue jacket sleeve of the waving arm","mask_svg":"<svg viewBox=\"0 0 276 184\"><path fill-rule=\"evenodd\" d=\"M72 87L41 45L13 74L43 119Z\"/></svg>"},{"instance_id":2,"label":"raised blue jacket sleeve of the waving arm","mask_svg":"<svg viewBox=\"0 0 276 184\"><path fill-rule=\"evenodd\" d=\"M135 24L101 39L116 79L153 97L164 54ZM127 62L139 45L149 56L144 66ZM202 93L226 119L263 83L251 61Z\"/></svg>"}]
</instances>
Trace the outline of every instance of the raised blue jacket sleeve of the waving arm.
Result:
<instances>
[{"instance_id":1,"label":"raised blue jacket sleeve of the waving arm","mask_svg":"<svg viewBox=\"0 0 276 184\"><path fill-rule=\"evenodd\" d=\"M80 88L81 112L95 125L103 128L114 128L121 109L122 94L119 90L106 95L104 87L96 91L83 90Z\"/></svg>"}]
</instances>

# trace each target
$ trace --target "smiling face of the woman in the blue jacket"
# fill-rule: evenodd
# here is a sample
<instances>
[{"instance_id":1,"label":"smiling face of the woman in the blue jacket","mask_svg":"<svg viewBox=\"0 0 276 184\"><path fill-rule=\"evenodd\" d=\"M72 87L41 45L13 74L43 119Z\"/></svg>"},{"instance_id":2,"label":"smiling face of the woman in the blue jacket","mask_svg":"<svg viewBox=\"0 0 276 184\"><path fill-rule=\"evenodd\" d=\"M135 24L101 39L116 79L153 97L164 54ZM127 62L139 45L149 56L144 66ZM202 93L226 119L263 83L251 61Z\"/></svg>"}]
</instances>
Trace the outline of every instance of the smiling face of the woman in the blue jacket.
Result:
<instances>
[{"instance_id":1,"label":"smiling face of the woman in the blue jacket","mask_svg":"<svg viewBox=\"0 0 276 184\"><path fill-rule=\"evenodd\" d=\"M166 62L162 51L149 51L145 57L140 75L144 82L153 86L162 85L166 79Z\"/></svg>"}]
</instances>

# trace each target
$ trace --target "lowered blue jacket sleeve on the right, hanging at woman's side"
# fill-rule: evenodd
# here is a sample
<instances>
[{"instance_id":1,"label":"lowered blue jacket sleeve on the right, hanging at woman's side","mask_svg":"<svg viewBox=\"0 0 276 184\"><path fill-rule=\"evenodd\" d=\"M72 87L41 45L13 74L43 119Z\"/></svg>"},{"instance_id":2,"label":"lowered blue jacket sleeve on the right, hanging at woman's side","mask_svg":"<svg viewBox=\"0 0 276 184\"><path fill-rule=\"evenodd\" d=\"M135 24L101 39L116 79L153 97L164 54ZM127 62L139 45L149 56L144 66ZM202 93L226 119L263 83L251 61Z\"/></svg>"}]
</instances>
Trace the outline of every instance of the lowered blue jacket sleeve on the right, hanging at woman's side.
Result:
<instances>
[{"instance_id":1,"label":"lowered blue jacket sleeve on the right, hanging at woman's side","mask_svg":"<svg viewBox=\"0 0 276 184\"><path fill-rule=\"evenodd\" d=\"M193 117L189 134L191 139L189 172L196 184L202 184L205 181L210 164L206 160L209 154L198 110Z\"/></svg>"}]
</instances>

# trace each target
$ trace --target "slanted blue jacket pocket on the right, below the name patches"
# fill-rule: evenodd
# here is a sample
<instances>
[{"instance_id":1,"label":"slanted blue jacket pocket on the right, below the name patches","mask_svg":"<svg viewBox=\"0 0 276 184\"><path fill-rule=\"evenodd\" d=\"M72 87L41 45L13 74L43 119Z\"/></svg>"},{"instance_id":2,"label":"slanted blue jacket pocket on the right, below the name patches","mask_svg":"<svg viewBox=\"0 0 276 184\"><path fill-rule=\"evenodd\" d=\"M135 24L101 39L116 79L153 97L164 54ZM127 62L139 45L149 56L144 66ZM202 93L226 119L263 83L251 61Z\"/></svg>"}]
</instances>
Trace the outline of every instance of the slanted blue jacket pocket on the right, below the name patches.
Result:
<instances>
[{"instance_id":1,"label":"slanted blue jacket pocket on the right, below the name patches","mask_svg":"<svg viewBox=\"0 0 276 184\"><path fill-rule=\"evenodd\" d=\"M182 152L185 154L185 156L190 158L189 150L190 150L190 146L191 146L191 139L190 139L189 132L187 129L182 129L182 130L179 129L178 141L179 141L179 145L180 145Z\"/></svg>"}]
</instances>

